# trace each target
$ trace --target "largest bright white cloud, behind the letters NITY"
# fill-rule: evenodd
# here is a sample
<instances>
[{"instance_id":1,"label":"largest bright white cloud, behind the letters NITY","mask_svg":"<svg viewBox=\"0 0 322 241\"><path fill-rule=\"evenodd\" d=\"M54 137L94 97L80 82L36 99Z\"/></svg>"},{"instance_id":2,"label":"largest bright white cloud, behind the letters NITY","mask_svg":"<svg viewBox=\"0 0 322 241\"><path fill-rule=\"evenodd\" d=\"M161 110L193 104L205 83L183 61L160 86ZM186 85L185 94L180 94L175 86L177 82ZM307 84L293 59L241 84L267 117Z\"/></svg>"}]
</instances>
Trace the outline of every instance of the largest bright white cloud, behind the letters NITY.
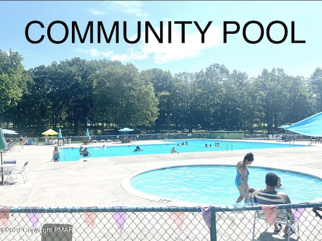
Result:
<instances>
[{"instance_id":1,"label":"largest bright white cloud, behind the letters NITY","mask_svg":"<svg viewBox=\"0 0 322 241\"><path fill-rule=\"evenodd\" d=\"M192 24L194 26L194 24ZM203 29L205 26L201 26ZM159 29L155 29L159 33ZM189 28L191 29L191 28ZM187 28L186 28L186 32ZM182 43L181 26L172 25L171 43L168 43L168 26L164 26L163 43L159 43L154 35L149 31L148 43L145 43L145 33L142 32L140 42L131 44L125 53L115 53L113 50L100 51L97 49L83 50L78 52L90 54L92 57L106 57L111 60L123 62L131 60L152 59L156 64L178 61L186 58L194 58L216 45L221 44L221 27L209 27L205 33L205 42L201 43L201 33L194 27L193 33L185 34L185 43ZM136 38L136 36L134 37ZM130 38L131 39L131 38ZM121 44L121 43L120 43Z\"/></svg>"}]
</instances>

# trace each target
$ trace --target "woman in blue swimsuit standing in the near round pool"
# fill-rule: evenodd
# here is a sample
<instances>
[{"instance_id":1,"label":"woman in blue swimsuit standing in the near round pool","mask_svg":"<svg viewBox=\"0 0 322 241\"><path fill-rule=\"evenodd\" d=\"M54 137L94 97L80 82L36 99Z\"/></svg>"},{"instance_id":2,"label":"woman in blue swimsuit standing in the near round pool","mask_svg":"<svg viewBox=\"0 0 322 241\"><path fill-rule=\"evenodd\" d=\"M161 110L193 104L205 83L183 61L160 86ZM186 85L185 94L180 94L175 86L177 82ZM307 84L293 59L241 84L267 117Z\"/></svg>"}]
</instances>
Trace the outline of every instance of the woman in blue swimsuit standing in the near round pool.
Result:
<instances>
[{"instance_id":1,"label":"woman in blue swimsuit standing in the near round pool","mask_svg":"<svg viewBox=\"0 0 322 241\"><path fill-rule=\"evenodd\" d=\"M247 205L247 200L249 198L250 193L248 192L250 187L248 185L248 177L250 172L247 168L247 165L251 165L254 160L254 155L252 152L247 153L244 157L243 162L238 162L236 166L236 178L235 178L235 186L238 189L239 197L236 200L236 203L243 201Z\"/></svg>"}]
</instances>

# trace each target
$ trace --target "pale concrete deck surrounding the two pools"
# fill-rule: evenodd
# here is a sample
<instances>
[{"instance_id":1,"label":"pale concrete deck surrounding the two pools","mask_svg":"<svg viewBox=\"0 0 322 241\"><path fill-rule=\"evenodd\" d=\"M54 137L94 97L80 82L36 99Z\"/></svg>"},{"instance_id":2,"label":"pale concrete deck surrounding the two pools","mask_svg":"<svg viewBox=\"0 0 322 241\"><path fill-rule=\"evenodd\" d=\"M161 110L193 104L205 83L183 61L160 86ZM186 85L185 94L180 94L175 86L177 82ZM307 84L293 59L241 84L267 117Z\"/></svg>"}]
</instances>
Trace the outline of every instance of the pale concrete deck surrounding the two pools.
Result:
<instances>
[{"instance_id":1,"label":"pale concrete deck surrounding the two pools","mask_svg":"<svg viewBox=\"0 0 322 241\"><path fill-rule=\"evenodd\" d=\"M276 143L276 141L264 140L255 142ZM133 145L133 149L135 149L136 145L151 143L159 143L159 141L136 141L136 143L130 143L130 145ZM287 142L278 143L285 143L288 146ZM109 148L116 143L94 143L90 146L102 146L103 144ZM308 144L308 141L297 141L295 144ZM71 144L70 146L80 147L81 144ZM53 149L52 145L25 145L24 148L21 148L18 144L12 152L3 153L4 160L12 158L17 160L17 169L21 169L26 160L29 160L29 163L26 168L28 177L26 183L18 175L14 184L0 186L1 205L14 207L160 207L176 205L176 203L169 203L167 200L156 202L134 196L126 192L121 183L124 179L136 173L163 167L196 164L236 165L248 152L254 153L255 160L252 166L285 169L322 178L321 143L295 148L291 145L290 148L179 154L171 154L169 149L169 154L97 157L87 158L88 162L59 163L49 162ZM95 155L95 153L92 154ZM231 182L233 181L231 180ZM263 186L256 188L264 187L265 179L263 177ZM232 203L237 196L236 190ZM182 202L180 206L182 206L181 204Z\"/></svg>"}]
</instances>

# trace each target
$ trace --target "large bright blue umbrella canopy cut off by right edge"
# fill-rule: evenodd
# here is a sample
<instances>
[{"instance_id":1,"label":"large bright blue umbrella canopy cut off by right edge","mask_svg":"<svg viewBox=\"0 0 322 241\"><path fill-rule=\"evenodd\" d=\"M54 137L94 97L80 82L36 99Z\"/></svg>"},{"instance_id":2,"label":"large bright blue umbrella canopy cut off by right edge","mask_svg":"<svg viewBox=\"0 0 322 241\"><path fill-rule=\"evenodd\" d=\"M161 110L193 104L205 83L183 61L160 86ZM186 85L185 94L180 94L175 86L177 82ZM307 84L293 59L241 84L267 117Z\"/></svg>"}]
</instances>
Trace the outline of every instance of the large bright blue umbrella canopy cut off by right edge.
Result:
<instances>
[{"instance_id":1,"label":"large bright blue umbrella canopy cut off by right edge","mask_svg":"<svg viewBox=\"0 0 322 241\"><path fill-rule=\"evenodd\" d=\"M322 136L322 112L300 120L284 129L303 135Z\"/></svg>"}]
</instances>

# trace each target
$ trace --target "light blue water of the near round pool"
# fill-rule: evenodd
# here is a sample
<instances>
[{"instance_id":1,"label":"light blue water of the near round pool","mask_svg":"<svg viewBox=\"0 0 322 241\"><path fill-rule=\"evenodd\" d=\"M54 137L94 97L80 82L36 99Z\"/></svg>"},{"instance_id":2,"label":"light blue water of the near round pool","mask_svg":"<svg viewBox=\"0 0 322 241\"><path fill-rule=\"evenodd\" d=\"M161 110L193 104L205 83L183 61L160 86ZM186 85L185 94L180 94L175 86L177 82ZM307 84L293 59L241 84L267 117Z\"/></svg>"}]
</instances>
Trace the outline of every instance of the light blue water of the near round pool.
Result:
<instances>
[{"instance_id":1,"label":"light blue water of the near round pool","mask_svg":"<svg viewBox=\"0 0 322 241\"><path fill-rule=\"evenodd\" d=\"M283 189L292 203L321 198L322 180L300 173L249 167L250 188L264 189L265 176L281 177ZM141 192L164 199L211 205L233 205L239 196L234 185L235 166L184 166L152 170L133 177L130 185ZM244 204L243 202L240 204Z\"/></svg>"}]
</instances>

